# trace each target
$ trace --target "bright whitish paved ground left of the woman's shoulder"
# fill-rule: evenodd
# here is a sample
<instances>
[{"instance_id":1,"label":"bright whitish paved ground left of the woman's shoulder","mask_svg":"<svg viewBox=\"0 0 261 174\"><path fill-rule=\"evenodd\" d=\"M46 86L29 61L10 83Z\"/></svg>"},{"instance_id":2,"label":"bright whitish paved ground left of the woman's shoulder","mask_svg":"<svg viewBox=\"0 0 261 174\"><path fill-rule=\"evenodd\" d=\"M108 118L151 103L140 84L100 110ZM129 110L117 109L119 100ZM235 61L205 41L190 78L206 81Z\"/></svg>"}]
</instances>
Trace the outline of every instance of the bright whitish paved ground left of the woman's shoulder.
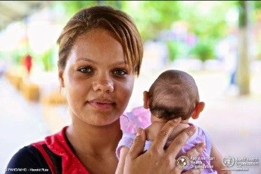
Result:
<instances>
[{"instance_id":1,"label":"bright whitish paved ground left of the woman's shoulder","mask_svg":"<svg viewBox=\"0 0 261 174\"><path fill-rule=\"evenodd\" d=\"M10 157L33 141L49 134L39 103L28 103L6 78L0 78L0 173Z\"/></svg>"}]
</instances>

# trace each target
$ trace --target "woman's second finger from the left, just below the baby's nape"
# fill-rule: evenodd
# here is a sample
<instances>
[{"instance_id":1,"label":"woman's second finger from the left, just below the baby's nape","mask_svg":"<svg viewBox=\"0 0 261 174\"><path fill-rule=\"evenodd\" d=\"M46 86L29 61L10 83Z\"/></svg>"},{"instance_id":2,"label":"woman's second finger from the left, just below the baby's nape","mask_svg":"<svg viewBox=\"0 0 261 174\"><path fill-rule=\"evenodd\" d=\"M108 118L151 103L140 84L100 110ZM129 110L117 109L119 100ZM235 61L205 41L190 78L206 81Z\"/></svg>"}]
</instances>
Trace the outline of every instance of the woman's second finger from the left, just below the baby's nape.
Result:
<instances>
[{"instance_id":1,"label":"woman's second finger from the left, just below the baby's nape","mask_svg":"<svg viewBox=\"0 0 261 174\"><path fill-rule=\"evenodd\" d=\"M169 135L173 132L174 128L180 123L181 118L173 119L168 121L163 127L160 129L160 132L155 137L155 140L151 144L152 149L162 149L164 148Z\"/></svg>"}]
</instances>

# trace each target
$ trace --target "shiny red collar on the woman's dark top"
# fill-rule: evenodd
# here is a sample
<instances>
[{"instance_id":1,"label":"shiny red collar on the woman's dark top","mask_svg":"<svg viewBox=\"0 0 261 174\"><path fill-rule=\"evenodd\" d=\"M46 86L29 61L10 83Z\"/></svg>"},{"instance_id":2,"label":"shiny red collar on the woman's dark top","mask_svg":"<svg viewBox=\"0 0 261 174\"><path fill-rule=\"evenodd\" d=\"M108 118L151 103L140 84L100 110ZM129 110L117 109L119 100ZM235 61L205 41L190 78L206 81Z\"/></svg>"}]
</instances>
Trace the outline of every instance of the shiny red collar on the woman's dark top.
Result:
<instances>
[{"instance_id":1,"label":"shiny red collar on the woman's dark top","mask_svg":"<svg viewBox=\"0 0 261 174\"><path fill-rule=\"evenodd\" d=\"M57 134L46 137L45 143L53 153L62 157L62 173L89 174L87 169L83 166L67 144L65 135L67 127L68 126L62 128L62 130Z\"/></svg>"}]
</instances>

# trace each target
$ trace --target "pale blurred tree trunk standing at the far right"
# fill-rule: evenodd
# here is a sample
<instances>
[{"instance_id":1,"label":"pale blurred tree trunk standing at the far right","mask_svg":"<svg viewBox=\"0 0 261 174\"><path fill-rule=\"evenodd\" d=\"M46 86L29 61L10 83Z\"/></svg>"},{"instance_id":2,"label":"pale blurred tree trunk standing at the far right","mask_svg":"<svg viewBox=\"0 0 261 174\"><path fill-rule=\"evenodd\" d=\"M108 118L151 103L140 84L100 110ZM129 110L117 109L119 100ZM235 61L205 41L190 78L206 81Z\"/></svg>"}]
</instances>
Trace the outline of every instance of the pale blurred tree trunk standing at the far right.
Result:
<instances>
[{"instance_id":1,"label":"pale blurred tree trunk standing at the far right","mask_svg":"<svg viewBox=\"0 0 261 174\"><path fill-rule=\"evenodd\" d=\"M250 94L249 8L249 1L239 1L239 59L237 66L237 84L240 96Z\"/></svg>"}]
</instances>

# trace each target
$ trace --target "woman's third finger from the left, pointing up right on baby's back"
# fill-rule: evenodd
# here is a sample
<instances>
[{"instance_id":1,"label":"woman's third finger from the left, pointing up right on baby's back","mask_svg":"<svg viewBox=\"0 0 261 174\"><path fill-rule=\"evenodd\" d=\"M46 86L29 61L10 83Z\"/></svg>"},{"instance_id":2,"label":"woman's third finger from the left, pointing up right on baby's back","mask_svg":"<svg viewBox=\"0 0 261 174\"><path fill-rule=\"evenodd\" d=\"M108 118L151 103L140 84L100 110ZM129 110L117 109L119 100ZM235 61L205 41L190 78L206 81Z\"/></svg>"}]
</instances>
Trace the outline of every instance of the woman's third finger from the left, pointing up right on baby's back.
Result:
<instances>
[{"instance_id":1,"label":"woman's third finger from the left, pointing up right on baby's back","mask_svg":"<svg viewBox=\"0 0 261 174\"><path fill-rule=\"evenodd\" d=\"M180 149L185 145L186 141L190 139L195 132L196 127L194 125L190 125L189 128L183 130L183 132L178 134L178 136L171 142L167 148L167 153L171 154L173 157L176 157Z\"/></svg>"}]
</instances>

